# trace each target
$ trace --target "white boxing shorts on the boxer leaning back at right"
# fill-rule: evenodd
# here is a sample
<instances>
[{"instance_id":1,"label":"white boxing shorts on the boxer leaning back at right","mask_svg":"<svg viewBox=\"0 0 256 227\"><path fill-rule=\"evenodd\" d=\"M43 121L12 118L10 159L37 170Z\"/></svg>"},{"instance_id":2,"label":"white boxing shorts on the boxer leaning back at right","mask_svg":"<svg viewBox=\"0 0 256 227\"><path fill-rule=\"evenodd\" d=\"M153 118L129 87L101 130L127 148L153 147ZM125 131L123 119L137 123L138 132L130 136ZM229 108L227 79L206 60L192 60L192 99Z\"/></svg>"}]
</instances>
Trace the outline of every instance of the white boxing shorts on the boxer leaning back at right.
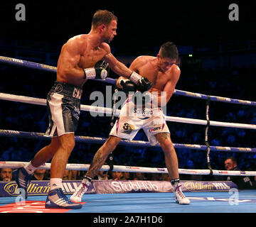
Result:
<instances>
[{"instance_id":1,"label":"white boxing shorts on the boxer leaning back at right","mask_svg":"<svg viewBox=\"0 0 256 227\"><path fill-rule=\"evenodd\" d=\"M149 109L135 106L129 96L122 106L119 118L114 123L110 135L132 140L140 129L143 129L151 145L159 144L156 134L170 133L160 108Z\"/></svg>"}]
</instances>

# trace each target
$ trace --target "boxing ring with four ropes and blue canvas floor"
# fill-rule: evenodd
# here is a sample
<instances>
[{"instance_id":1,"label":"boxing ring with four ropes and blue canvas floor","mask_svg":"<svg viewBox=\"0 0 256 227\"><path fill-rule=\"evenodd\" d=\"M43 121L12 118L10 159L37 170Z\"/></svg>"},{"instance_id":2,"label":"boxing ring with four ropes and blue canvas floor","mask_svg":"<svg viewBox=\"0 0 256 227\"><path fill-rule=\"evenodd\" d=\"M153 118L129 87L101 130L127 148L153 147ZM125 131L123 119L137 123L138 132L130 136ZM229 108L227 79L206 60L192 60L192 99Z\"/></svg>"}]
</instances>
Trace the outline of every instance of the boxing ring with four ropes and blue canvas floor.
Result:
<instances>
[{"instance_id":1,"label":"boxing ring with four ropes and blue canvas floor","mask_svg":"<svg viewBox=\"0 0 256 227\"><path fill-rule=\"evenodd\" d=\"M11 57L0 56L0 63L29 67L36 70L43 70L48 72L56 72L56 67L43 65L36 62L29 62L26 60L18 60ZM107 84L115 84L116 80L107 78L104 81ZM178 169L179 174L183 175L210 175L210 176L256 176L256 171L227 171L227 170L213 170L210 164L210 152L236 152L236 153L256 153L256 148L238 148L238 147L225 147L225 146L212 146L208 141L208 128L210 126L221 126L230 128L243 128L255 130L256 125L246 123L229 123L212 121L209 119L208 111L210 108L210 101L220 101L229 104L240 104L247 106L256 106L255 101L245 101L240 99L230 99L221 96L208 96L205 94L198 94L193 92L184 92L175 90L175 95L186 96L194 99L206 100L206 120L195 118L181 118L175 116L166 116L166 121L189 123L206 126L205 129L205 145L198 144L181 144L174 143L174 148L190 149L190 150L203 150L206 152L207 170L186 170ZM14 94L0 93L0 99L4 101L14 101L26 104L46 106L46 99L38 99L36 97L19 96ZM81 111L90 111L97 114L110 114L110 116L119 116L119 110L113 111L112 108L105 108L100 106L87 106L81 105ZM14 138L30 138L38 140L50 140L50 137L44 133L14 131L8 129L0 129L1 137L14 137ZM105 143L107 138L98 138L90 136L75 135L75 141L79 143ZM134 146L134 147L151 147L149 142L142 140L121 140L119 145ZM159 145L156 145L159 147ZM26 165L27 162L13 162L1 161L0 168L18 168ZM67 170L88 170L89 164L68 164ZM46 163L39 167L41 169L50 169L50 163ZM103 165L100 171L119 171L119 172L145 172L145 173L168 173L166 168L160 167L136 167L136 166L122 166L122 165ZM130 183L132 184L132 183ZM186 182L183 182L186 184ZM97 183L95 182L95 185ZM220 185L219 185L220 186ZM146 186L144 186L145 188ZM171 185L170 185L171 187ZM223 187L223 185L221 186ZM0 213L1 212L68 212L68 213L254 213L256 211L256 192L255 190L239 191L228 184L225 184L224 190L218 189L207 192L207 190L199 190L196 192L184 192L184 194L191 199L191 204L188 206L181 206L176 204L173 199L171 191L164 193L137 193L136 190L132 193L92 193L85 194L82 199L83 207L80 210L61 210L61 209L44 209L44 201L46 196L28 196L28 200L23 201L23 205L17 205L15 196L6 196L0 198ZM124 221L124 220L122 220Z\"/></svg>"}]
</instances>

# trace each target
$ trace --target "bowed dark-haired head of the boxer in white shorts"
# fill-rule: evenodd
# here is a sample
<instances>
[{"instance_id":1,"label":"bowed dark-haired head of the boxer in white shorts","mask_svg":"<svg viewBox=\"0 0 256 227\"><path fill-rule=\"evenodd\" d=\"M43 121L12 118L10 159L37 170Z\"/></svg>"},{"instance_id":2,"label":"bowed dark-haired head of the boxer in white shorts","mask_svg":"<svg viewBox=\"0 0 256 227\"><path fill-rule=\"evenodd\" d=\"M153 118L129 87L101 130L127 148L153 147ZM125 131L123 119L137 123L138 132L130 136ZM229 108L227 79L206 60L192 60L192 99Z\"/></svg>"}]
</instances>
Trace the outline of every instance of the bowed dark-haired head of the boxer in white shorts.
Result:
<instances>
[{"instance_id":1,"label":"bowed dark-haired head of the boxer in white shorts","mask_svg":"<svg viewBox=\"0 0 256 227\"><path fill-rule=\"evenodd\" d=\"M178 60L178 49L174 43L168 42L161 45L158 58L159 69L163 72L169 70L169 68L176 64Z\"/></svg>"}]
</instances>

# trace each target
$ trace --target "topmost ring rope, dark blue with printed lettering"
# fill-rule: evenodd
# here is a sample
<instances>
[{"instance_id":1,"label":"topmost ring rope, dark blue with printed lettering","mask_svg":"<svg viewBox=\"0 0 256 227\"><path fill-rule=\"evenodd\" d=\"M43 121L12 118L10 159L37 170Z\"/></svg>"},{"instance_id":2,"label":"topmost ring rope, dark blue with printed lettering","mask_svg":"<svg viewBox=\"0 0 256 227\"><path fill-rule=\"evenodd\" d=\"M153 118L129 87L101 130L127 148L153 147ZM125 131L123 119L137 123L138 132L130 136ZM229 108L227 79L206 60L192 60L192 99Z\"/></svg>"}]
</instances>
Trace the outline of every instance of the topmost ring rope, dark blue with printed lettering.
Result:
<instances>
[{"instance_id":1,"label":"topmost ring rope, dark blue with printed lettering","mask_svg":"<svg viewBox=\"0 0 256 227\"><path fill-rule=\"evenodd\" d=\"M0 63L5 63L9 65L16 65L16 66L22 66L22 67L29 67L33 68L36 70L45 70L48 72L56 72L57 67L53 67L50 65L44 65L36 62L29 62L26 60L19 60L16 58L12 57L4 57L0 56ZM116 79L112 79L110 77L107 77L106 79L94 79L100 82L106 82L109 84L115 84ZM208 99L210 97L210 101L222 101L222 102L228 102L231 104L243 104L243 105L249 105L249 106L256 106L256 101L246 101L246 100L241 100L241 99L230 99L222 96L208 96L206 94L199 94L199 93L194 93L194 92L186 92L186 91L181 91L178 89L174 90L174 94L176 95L181 95L181 96L188 96L191 98L197 98L197 99Z\"/></svg>"}]
</instances>

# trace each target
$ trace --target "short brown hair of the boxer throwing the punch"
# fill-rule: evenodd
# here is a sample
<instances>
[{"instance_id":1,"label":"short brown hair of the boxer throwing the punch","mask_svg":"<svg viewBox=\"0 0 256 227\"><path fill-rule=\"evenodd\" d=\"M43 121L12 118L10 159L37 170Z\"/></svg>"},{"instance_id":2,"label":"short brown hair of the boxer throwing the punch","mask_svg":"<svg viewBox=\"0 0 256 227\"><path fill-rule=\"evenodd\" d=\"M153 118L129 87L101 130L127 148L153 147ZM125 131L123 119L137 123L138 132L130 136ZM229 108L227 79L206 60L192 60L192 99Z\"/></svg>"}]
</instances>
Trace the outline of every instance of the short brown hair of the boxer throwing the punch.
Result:
<instances>
[{"instance_id":1,"label":"short brown hair of the boxer throwing the punch","mask_svg":"<svg viewBox=\"0 0 256 227\"><path fill-rule=\"evenodd\" d=\"M109 25L111 21L117 21L117 16L107 10L97 10L92 17L92 27L97 28L102 23Z\"/></svg>"}]
</instances>

